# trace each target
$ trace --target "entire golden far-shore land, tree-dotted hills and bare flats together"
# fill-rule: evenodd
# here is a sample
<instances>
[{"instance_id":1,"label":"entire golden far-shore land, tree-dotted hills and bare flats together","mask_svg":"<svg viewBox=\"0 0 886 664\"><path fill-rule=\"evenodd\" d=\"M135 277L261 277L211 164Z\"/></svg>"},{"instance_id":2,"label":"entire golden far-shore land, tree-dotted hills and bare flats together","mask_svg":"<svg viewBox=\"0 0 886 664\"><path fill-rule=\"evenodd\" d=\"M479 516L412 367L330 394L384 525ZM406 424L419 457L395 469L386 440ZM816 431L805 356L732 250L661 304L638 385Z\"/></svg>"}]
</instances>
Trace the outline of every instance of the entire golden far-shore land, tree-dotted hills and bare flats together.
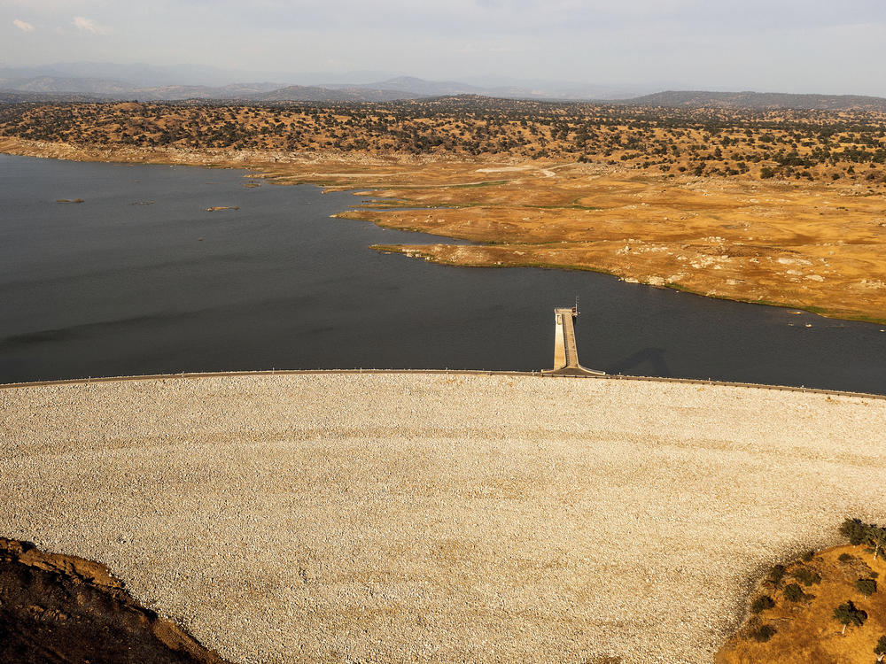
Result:
<instances>
[{"instance_id":1,"label":"entire golden far-shore land, tree-dotted hills and bare flats together","mask_svg":"<svg viewBox=\"0 0 886 664\"><path fill-rule=\"evenodd\" d=\"M277 182L361 189L369 205L338 216L473 243L385 251L595 270L886 321L886 116L877 112L476 98L19 104L0 107L0 151L250 166Z\"/></svg>"}]
</instances>

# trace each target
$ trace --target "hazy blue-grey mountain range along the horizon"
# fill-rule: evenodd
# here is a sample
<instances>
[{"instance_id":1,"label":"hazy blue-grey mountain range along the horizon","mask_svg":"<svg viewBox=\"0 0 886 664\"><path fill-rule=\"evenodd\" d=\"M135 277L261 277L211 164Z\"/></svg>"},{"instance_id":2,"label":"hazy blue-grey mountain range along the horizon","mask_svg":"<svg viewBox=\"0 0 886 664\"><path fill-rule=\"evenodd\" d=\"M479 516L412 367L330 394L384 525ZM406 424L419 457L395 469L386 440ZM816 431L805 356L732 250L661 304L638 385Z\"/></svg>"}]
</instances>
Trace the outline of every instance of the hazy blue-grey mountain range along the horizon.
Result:
<instances>
[{"instance_id":1,"label":"hazy blue-grey mountain range along the horizon","mask_svg":"<svg viewBox=\"0 0 886 664\"><path fill-rule=\"evenodd\" d=\"M85 66L85 65L84 65ZM862 109L886 112L886 98L851 95L795 95L771 92L666 91L633 97L618 89L556 83L551 81L514 81L513 85L473 85L459 81L425 81L400 76L362 84L329 83L323 85L282 85L276 82L232 83L229 85L136 85L118 78L61 75L56 69L0 68L0 99L4 101L130 100L182 101L224 100L242 102L389 102L400 99L477 95L504 99L546 101L609 101L613 104L666 106L671 108L789 108L839 111ZM115 68L116 67L116 68ZM132 67L132 66L130 66ZM148 67L148 66L143 66ZM69 66L72 72L80 71ZM95 66L99 72L127 73L126 66ZM141 81L157 81L163 68L148 67L140 73ZM54 72L54 73L47 73ZM37 75L27 76L27 73ZM198 75L199 72L193 75ZM217 75L217 73L216 73ZM528 86L526 84L529 84Z\"/></svg>"}]
</instances>

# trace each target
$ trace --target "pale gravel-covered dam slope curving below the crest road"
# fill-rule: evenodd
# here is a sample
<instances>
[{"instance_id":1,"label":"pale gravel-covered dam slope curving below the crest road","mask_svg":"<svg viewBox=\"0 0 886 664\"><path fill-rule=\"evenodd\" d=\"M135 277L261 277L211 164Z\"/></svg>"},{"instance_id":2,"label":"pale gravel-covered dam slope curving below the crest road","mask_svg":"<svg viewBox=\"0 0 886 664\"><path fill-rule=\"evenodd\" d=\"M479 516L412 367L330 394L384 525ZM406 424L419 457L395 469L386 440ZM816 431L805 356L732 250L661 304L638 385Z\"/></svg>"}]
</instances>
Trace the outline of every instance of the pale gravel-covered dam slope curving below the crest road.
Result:
<instances>
[{"instance_id":1,"label":"pale gravel-covered dam slope curving below the crest road","mask_svg":"<svg viewBox=\"0 0 886 664\"><path fill-rule=\"evenodd\" d=\"M886 401L306 374L0 390L0 535L241 662L710 662L886 515ZM615 660L612 660L615 661Z\"/></svg>"}]
</instances>

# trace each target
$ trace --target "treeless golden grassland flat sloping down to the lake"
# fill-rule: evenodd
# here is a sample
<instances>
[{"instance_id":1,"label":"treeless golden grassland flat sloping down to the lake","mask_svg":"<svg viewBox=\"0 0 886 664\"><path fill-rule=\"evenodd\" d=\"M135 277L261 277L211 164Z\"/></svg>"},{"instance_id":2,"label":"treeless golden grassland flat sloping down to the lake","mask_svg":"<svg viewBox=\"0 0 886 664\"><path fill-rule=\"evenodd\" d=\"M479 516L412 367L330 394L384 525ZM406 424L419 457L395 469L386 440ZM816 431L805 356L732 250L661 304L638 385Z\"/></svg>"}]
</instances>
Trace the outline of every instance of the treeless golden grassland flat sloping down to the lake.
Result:
<instances>
[{"instance_id":1,"label":"treeless golden grassland flat sloping down to the lake","mask_svg":"<svg viewBox=\"0 0 886 664\"><path fill-rule=\"evenodd\" d=\"M587 165L497 176L506 180L409 189L378 182L385 188L374 196L429 209L339 216L476 243L380 247L439 263L598 270L712 297L886 319L881 197L749 180L662 181Z\"/></svg>"}]
</instances>

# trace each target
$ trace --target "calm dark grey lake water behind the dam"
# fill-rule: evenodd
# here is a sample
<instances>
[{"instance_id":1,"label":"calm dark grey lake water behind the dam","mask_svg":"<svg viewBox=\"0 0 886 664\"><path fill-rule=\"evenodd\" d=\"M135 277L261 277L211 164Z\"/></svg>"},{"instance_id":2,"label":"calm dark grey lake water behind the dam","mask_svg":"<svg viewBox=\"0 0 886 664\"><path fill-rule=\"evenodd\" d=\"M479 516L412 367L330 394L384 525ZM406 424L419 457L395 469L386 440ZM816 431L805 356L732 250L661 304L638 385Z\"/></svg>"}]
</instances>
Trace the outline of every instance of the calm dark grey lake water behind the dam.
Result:
<instances>
[{"instance_id":1,"label":"calm dark grey lake water behind the dam","mask_svg":"<svg viewBox=\"0 0 886 664\"><path fill-rule=\"evenodd\" d=\"M351 194L247 189L243 176L0 155L0 382L537 370L552 363L553 308L578 296L586 367L886 393L882 326L602 274L385 255L369 245L439 238L330 219L361 202ZM206 212L214 205L240 209Z\"/></svg>"}]
</instances>

